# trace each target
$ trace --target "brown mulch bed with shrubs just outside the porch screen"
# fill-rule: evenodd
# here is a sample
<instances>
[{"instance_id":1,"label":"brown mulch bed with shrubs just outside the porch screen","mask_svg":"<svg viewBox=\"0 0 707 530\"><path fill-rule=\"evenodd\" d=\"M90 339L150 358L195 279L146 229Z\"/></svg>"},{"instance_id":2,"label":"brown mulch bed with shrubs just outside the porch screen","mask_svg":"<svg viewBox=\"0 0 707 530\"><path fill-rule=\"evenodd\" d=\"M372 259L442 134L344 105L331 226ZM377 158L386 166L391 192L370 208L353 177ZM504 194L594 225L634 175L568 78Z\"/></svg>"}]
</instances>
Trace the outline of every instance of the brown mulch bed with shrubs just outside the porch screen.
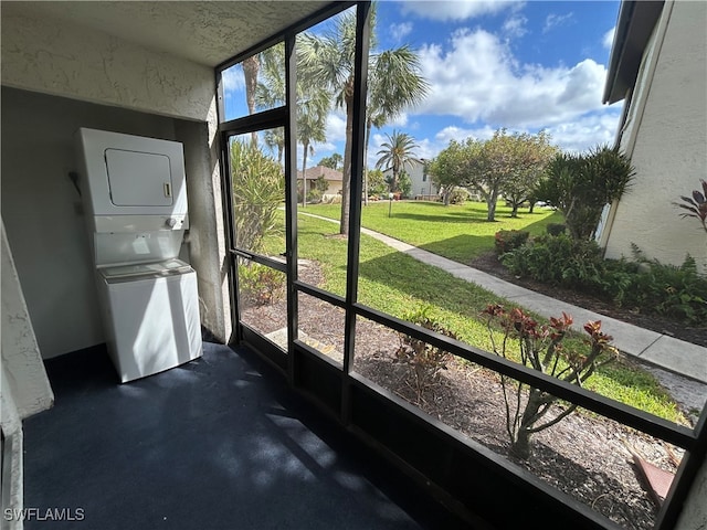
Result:
<instances>
[{"instance_id":1,"label":"brown mulch bed with shrubs just outside the porch screen","mask_svg":"<svg viewBox=\"0 0 707 530\"><path fill-rule=\"evenodd\" d=\"M300 266L299 276L312 285L321 280L314 263ZM557 292L553 290L553 295ZM342 310L306 295L299 296L298 306L299 329L306 333L307 341L340 361ZM286 307L282 300L251 305L242 310L243 320L262 333L279 329L284 315ZM653 527L657 506L647 485L639 478L632 452L674 473L682 449L601 416L576 413L537 433L532 456L527 462L518 460L508 455L505 405L496 373L455 360L440 372L433 384L418 393L410 367L395 362L399 346L397 332L360 319L354 369L624 528Z\"/></svg>"}]
</instances>

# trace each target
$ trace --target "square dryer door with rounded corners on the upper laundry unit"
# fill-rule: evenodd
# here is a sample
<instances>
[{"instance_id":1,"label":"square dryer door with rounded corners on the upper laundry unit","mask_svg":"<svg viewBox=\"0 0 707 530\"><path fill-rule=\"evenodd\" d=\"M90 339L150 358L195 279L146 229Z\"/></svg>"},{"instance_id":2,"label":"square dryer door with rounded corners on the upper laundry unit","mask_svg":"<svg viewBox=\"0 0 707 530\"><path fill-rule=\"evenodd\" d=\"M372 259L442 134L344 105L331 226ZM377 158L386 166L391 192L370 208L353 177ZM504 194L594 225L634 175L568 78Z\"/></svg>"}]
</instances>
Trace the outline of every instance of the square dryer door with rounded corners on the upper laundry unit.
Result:
<instances>
[{"instance_id":1,"label":"square dryer door with rounded corners on the upper laundry unit","mask_svg":"<svg viewBox=\"0 0 707 530\"><path fill-rule=\"evenodd\" d=\"M169 157L105 150L110 202L116 206L169 206L173 202Z\"/></svg>"}]
</instances>

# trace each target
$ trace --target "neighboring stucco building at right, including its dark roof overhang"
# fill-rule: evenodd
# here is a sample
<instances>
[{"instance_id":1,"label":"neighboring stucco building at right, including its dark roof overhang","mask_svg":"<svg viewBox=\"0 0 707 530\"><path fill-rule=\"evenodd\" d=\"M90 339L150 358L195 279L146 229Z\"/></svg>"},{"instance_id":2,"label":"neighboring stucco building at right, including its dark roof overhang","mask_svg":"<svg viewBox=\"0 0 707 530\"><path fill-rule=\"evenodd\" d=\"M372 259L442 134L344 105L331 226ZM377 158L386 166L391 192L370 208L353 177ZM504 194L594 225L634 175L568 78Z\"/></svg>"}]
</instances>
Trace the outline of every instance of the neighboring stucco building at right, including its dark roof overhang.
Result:
<instances>
[{"instance_id":1,"label":"neighboring stucco building at right, including its dark roof overhang","mask_svg":"<svg viewBox=\"0 0 707 530\"><path fill-rule=\"evenodd\" d=\"M707 178L707 2L623 2L604 103L624 99L618 145L635 180L608 209L606 256L679 265L689 253L707 273L707 234L674 204Z\"/></svg>"}]
</instances>

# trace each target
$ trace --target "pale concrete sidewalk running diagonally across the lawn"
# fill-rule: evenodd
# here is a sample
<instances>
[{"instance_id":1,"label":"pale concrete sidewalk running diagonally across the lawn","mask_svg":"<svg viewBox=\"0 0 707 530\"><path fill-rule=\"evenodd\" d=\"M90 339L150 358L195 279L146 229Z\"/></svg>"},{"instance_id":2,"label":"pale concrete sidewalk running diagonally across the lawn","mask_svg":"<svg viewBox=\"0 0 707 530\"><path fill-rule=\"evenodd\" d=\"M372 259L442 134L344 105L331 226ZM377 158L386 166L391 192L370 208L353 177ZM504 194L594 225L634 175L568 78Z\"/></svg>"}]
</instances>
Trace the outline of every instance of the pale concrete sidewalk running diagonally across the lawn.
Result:
<instances>
[{"instance_id":1,"label":"pale concrete sidewalk running diagonally across the lawn","mask_svg":"<svg viewBox=\"0 0 707 530\"><path fill-rule=\"evenodd\" d=\"M333 221L312 213L299 213L324 221ZM338 221L334 222L338 223ZM589 320L601 320L602 331L613 336L613 344L625 354L636 357L651 364L701 383L707 383L707 348L556 300L549 296L505 282L483 271L432 254L372 230L361 229L361 233L370 235L399 252L409 254L420 262L442 268L452 276L474 283L542 317L559 317L564 311L572 316L574 320L572 328L578 331L582 331L584 324Z\"/></svg>"}]
</instances>

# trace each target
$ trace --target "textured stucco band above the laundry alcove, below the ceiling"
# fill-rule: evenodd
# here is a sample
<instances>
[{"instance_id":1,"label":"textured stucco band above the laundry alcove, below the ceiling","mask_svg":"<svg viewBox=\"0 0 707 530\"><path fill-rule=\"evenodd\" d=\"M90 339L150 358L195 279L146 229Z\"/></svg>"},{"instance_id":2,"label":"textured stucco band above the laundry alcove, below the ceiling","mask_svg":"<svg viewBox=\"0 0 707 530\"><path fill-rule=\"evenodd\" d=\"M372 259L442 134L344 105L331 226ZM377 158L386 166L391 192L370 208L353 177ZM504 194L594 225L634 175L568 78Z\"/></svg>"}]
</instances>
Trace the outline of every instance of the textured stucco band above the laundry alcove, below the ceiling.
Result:
<instances>
[{"instance_id":1,"label":"textured stucco band above the laundry alcove, below the ceiling","mask_svg":"<svg viewBox=\"0 0 707 530\"><path fill-rule=\"evenodd\" d=\"M2 84L205 121L213 70L70 22L2 13Z\"/></svg>"}]
</instances>

